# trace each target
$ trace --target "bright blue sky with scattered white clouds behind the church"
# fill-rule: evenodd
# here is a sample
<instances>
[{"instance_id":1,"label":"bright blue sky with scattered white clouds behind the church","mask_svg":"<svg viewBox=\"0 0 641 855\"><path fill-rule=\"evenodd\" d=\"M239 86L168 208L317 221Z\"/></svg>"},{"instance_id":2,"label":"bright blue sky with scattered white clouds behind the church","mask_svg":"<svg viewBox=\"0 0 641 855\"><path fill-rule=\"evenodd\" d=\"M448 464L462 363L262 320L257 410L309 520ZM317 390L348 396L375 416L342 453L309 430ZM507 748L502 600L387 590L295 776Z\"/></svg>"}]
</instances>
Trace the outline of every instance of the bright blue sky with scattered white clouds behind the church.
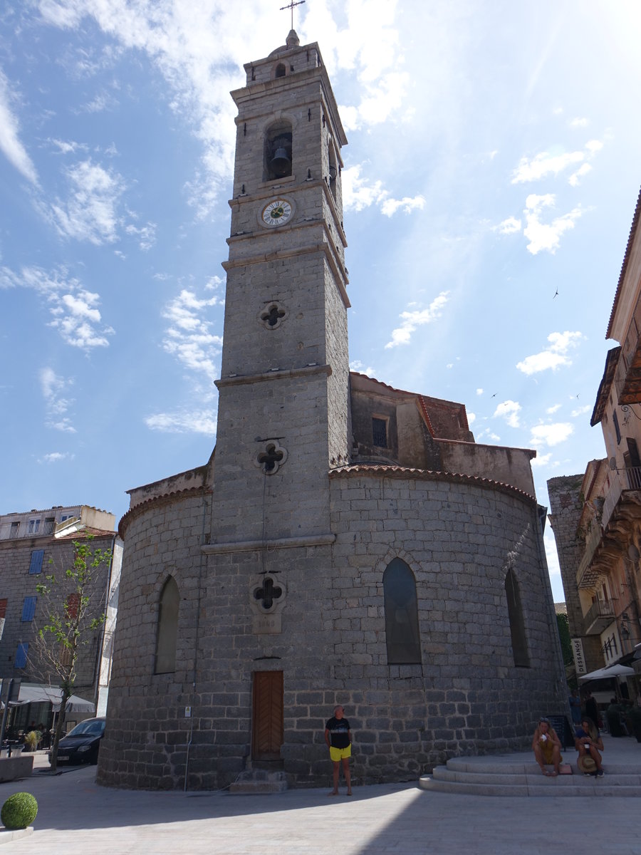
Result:
<instances>
[{"instance_id":1,"label":"bright blue sky with scattered white clouds behind the church","mask_svg":"<svg viewBox=\"0 0 641 855\"><path fill-rule=\"evenodd\" d=\"M273 0L0 9L0 512L94 504L215 444L235 109ZM590 427L639 184L637 2L307 0L349 146L350 360L466 404L545 482ZM556 600L563 598L547 535ZM550 549L551 547L551 549Z\"/></svg>"}]
</instances>

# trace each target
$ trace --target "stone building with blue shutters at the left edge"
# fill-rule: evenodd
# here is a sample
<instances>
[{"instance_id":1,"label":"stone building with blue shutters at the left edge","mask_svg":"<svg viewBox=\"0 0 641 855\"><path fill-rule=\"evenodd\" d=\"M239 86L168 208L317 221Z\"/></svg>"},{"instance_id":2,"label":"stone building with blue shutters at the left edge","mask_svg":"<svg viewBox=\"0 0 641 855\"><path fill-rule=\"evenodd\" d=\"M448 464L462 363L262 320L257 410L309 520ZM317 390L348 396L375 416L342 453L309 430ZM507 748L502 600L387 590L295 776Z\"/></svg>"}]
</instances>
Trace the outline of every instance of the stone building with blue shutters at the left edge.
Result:
<instances>
[{"instance_id":1,"label":"stone building with blue shutters at the left edge","mask_svg":"<svg viewBox=\"0 0 641 855\"><path fill-rule=\"evenodd\" d=\"M74 693L104 714L122 560L122 541L114 528L113 514L87 505L0 516L0 680L59 685L56 673L38 655L38 630L47 613L36 586L51 573L63 577L74 561L74 541L91 534L92 548L111 552L88 591L91 611L105 613L106 620L80 648Z\"/></svg>"}]
</instances>

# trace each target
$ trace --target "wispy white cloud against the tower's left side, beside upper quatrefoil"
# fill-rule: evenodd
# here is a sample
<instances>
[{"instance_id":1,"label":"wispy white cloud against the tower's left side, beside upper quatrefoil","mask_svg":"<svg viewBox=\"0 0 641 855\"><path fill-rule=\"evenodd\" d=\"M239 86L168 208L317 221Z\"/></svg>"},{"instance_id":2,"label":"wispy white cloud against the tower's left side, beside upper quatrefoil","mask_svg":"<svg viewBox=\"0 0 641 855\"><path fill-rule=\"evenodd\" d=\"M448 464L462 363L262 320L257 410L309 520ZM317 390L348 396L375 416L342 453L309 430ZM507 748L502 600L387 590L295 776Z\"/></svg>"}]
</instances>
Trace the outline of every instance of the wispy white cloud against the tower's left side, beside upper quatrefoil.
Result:
<instances>
[{"instance_id":1,"label":"wispy white cloud against the tower's left side, beside upper quatrefoil","mask_svg":"<svg viewBox=\"0 0 641 855\"><path fill-rule=\"evenodd\" d=\"M163 350L185 368L203 371L210 380L217 377L214 358L221 353L222 339L210 332L211 321L204 320L203 310L219 304L218 297L201 300L184 288L162 311L162 317L170 321L162 340Z\"/></svg>"}]
</instances>

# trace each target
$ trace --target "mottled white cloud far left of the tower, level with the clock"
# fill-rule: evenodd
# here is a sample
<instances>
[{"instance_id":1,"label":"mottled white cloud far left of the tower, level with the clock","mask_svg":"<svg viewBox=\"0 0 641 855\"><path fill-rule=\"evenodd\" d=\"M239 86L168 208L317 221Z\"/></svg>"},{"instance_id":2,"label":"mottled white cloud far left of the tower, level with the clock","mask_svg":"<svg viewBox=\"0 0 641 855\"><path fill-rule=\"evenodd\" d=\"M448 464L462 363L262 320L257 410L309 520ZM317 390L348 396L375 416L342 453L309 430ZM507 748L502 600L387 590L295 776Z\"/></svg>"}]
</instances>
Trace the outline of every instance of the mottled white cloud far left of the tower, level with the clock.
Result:
<instances>
[{"instance_id":1,"label":"mottled white cloud far left of the tower, level with the clock","mask_svg":"<svg viewBox=\"0 0 641 855\"><path fill-rule=\"evenodd\" d=\"M117 207L125 190L121 175L91 160L65 170L70 185L67 201L56 199L50 208L41 204L44 215L67 238L91 244L113 243L120 225Z\"/></svg>"}]
</instances>

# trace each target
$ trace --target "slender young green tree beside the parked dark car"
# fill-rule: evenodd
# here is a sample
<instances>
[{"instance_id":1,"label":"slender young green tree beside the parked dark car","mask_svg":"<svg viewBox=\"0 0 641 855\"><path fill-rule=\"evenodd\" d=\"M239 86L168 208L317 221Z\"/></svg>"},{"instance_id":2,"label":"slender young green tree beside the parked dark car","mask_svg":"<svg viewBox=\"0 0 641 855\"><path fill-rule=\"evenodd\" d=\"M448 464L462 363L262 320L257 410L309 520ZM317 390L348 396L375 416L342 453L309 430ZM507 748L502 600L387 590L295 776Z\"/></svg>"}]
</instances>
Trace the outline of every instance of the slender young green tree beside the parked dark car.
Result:
<instances>
[{"instance_id":1,"label":"slender young green tree beside the parked dark car","mask_svg":"<svg viewBox=\"0 0 641 855\"><path fill-rule=\"evenodd\" d=\"M109 566L110 550L94 548L92 534L74 540L70 566L59 572L53 570L36 586L43 598L44 626L38 629L35 656L38 667L50 675L62 689L60 713L51 746L51 770L56 771L58 743L65 720L69 697L74 693L76 666L82 648L91 643L97 629L103 626L105 611L103 596L96 598L97 575L104 564ZM53 563L53 559L50 559Z\"/></svg>"}]
</instances>

